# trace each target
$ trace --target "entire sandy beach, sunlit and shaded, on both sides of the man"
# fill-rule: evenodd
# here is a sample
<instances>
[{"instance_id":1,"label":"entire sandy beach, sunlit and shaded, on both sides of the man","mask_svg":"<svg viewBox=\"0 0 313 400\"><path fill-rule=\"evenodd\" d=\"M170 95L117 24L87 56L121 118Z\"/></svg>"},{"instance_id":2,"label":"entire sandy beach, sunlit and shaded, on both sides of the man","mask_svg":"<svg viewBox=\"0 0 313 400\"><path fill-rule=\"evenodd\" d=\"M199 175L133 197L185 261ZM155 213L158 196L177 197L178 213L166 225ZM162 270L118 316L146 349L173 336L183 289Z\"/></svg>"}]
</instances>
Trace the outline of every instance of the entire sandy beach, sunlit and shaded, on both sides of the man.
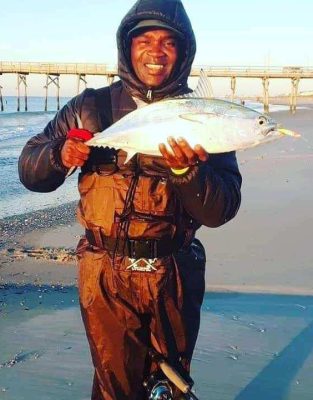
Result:
<instances>
[{"instance_id":1,"label":"entire sandy beach, sunlit and shaded, on both sides of the man","mask_svg":"<svg viewBox=\"0 0 313 400\"><path fill-rule=\"evenodd\" d=\"M198 233L208 291L193 363L202 399L313 392L313 110L274 118L302 138L238 153L241 209ZM82 233L75 202L0 221L0 398L88 399L75 263Z\"/></svg>"}]
</instances>

